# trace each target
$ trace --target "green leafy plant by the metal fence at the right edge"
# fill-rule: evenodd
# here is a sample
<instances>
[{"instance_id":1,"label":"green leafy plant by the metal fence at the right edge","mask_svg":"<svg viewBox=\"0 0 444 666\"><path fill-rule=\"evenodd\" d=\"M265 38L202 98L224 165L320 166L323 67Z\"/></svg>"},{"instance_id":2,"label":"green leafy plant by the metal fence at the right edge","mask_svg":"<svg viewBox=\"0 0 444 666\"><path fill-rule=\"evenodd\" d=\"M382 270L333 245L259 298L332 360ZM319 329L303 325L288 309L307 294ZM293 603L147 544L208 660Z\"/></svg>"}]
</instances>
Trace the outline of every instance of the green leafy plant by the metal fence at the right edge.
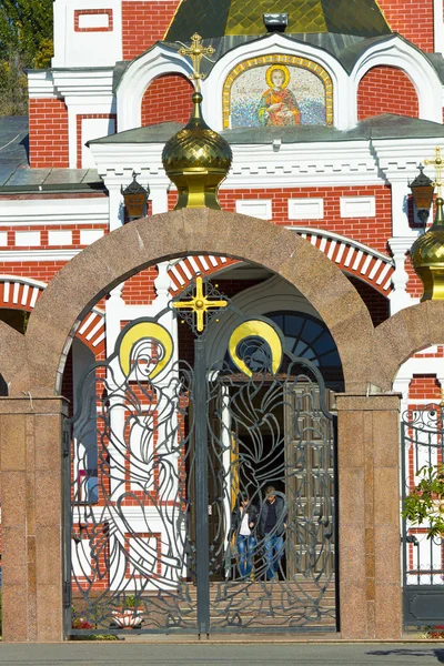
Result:
<instances>
[{"instance_id":1,"label":"green leafy plant by the metal fence at the right edge","mask_svg":"<svg viewBox=\"0 0 444 666\"><path fill-rule=\"evenodd\" d=\"M404 500L402 515L412 525L427 523L427 538L444 535L444 464L425 465L418 483Z\"/></svg>"}]
</instances>

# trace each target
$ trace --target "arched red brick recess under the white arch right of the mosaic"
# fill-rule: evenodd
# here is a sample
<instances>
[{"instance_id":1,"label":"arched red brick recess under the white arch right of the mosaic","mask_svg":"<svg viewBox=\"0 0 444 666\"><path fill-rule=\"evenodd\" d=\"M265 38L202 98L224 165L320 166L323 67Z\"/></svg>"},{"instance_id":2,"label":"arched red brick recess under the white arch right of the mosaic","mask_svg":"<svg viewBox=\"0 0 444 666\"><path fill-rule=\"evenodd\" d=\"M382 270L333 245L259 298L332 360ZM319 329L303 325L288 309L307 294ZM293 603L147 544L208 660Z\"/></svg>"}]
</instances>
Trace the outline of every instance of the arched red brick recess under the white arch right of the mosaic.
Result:
<instances>
[{"instance_id":1,"label":"arched red brick recess under the white arch right of the mosaic","mask_svg":"<svg viewBox=\"0 0 444 666\"><path fill-rule=\"evenodd\" d=\"M361 79L357 89L357 119L379 113L418 118L420 105L412 81L392 67L375 67Z\"/></svg>"}]
</instances>

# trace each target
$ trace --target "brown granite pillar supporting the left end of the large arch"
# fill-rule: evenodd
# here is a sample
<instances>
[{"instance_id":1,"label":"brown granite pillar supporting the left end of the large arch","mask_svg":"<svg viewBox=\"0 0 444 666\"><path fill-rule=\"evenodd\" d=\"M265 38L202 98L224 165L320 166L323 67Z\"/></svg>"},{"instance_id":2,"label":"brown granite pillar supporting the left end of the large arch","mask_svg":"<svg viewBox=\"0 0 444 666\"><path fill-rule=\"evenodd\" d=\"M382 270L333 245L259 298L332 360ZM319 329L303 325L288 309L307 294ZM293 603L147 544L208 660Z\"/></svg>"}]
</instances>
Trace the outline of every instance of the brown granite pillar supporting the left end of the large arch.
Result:
<instances>
[{"instance_id":1,"label":"brown granite pillar supporting the left end of the large arch","mask_svg":"<svg viewBox=\"0 0 444 666\"><path fill-rule=\"evenodd\" d=\"M63 638L62 397L0 398L3 640Z\"/></svg>"}]
</instances>

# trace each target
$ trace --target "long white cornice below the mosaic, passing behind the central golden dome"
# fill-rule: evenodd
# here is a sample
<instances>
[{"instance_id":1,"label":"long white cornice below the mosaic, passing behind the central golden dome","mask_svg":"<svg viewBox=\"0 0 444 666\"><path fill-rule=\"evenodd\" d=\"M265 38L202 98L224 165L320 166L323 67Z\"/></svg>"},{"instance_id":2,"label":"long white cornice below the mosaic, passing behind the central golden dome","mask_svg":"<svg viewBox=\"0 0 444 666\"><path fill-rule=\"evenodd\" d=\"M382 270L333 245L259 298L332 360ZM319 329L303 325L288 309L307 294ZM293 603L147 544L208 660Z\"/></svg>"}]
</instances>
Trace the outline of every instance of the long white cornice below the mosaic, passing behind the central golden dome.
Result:
<instances>
[{"instance_id":1,"label":"long white cornice below the mosaic, passing behind the central golden dome","mask_svg":"<svg viewBox=\"0 0 444 666\"><path fill-rule=\"evenodd\" d=\"M232 188L376 185L405 181L440 138L379 139L319 143L233 144L233 165L222 190ZM91 151L105 183L130 182L131 172L163 185L163 144L92 144Z\"/></svg>"}]
</instances>

